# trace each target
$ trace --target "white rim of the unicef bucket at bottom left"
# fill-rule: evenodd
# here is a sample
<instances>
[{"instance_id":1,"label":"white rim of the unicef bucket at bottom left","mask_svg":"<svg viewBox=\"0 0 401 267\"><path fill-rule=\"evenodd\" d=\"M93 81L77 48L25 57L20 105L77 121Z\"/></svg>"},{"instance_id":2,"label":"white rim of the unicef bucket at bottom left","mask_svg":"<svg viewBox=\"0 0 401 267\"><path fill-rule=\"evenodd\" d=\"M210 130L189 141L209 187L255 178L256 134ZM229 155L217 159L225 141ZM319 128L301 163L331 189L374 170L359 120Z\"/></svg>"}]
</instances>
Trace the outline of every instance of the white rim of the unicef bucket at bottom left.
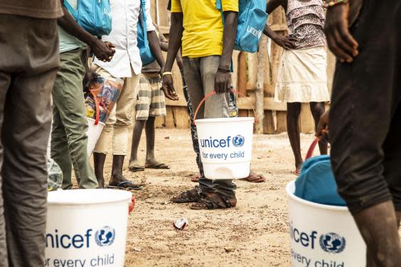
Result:
<instances>
[{"instance_id":1,"label":"white rim of the unicef bucket at bottom left","mask_svg":"<svg viewBox=\"0 0 401 267\"><path fill-rule=\"evenodd\" d=\"M48 205L95 205L130 202L132 193L112 189L73 189L48 192Z\"/></svg>"}]
</instances>

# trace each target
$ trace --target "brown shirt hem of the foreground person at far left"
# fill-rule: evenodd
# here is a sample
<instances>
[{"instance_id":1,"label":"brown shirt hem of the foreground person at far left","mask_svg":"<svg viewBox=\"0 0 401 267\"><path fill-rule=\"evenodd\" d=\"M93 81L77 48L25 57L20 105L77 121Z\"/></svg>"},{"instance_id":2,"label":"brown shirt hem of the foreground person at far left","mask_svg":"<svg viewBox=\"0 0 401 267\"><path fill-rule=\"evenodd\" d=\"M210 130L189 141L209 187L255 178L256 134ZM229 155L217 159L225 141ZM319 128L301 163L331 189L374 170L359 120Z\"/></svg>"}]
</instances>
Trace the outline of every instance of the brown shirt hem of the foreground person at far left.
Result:
<instances>
[{"instance_id":1,"label":"brown shirt hem of the foreground person at far left","mask_svg":"<svg viewBox=\"0 0 401 267\"><path fill-rule=\"evenodd\" d=\"M58 18L63 10L59 0L0 0L0 14Z\"/></svg>"}]
</instances>

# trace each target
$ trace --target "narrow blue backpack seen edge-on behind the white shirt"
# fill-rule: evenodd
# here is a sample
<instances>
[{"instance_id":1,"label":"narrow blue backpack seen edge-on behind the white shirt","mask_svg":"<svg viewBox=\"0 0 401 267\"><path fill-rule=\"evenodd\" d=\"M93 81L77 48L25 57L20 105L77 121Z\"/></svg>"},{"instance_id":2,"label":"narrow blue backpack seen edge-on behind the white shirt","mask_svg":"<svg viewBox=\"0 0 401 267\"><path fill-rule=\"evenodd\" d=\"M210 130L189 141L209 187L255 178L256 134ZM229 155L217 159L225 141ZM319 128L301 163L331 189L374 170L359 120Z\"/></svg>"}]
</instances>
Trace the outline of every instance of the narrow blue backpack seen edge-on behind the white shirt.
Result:
<instances>
[{"instance_id":1,"label":"narrow blue backpack seen edge-on behind the white shirt","mask_svg":"<svg viewBox=\"0 0 401 267\"><path fill-rule=\"evenodd\" d=\"M154 62L154 56L151 53L148 41L148 31L146 28L146 0L141 0L141 15L139 15L137 24L138 48L141 55L142 66Z\"/></svg>"}]
</instances>

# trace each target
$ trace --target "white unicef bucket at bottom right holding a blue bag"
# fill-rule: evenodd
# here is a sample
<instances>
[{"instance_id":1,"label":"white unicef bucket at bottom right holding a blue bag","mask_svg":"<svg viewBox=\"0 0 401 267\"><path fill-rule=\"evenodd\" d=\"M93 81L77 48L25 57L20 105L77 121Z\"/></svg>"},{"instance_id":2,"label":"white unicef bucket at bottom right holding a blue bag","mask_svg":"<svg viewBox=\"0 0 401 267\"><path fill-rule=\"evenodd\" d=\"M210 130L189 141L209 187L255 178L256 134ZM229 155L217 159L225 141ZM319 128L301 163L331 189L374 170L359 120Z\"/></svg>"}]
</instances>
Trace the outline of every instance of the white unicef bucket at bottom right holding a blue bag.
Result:
<instances>
[{"instance_id":1,"label":"white unicef bucket at bottom right holding a blue bag","mask_svg":"<svg viewBox=\"0 0 401 267\"><path fill-rule=\"evenodd\" d=\"M321 205L289 195L292 266L363 267L366 246L347 207Z\"/></svg>"}]
</instances>

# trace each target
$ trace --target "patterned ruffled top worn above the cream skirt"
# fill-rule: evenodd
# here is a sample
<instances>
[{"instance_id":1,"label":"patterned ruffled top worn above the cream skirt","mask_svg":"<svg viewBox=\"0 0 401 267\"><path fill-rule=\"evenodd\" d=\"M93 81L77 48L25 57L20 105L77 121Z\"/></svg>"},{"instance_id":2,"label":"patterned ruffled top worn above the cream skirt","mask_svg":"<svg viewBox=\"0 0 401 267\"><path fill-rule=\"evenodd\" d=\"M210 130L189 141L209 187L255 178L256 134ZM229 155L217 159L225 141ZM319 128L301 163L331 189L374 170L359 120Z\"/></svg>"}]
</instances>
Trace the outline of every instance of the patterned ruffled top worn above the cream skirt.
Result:
<instances>
[{"instance_id":1,"label":"patterned ruffled top worn above the cream skirt","mask_svg":"<svg viewBox=\"0 0 401 267\"><path fill-rule=\"evenodd\" d=\"M289 36L298 39L296 49L326 45L323 1L288 0L286 18Z\"/></svg>"}]
</instances>

